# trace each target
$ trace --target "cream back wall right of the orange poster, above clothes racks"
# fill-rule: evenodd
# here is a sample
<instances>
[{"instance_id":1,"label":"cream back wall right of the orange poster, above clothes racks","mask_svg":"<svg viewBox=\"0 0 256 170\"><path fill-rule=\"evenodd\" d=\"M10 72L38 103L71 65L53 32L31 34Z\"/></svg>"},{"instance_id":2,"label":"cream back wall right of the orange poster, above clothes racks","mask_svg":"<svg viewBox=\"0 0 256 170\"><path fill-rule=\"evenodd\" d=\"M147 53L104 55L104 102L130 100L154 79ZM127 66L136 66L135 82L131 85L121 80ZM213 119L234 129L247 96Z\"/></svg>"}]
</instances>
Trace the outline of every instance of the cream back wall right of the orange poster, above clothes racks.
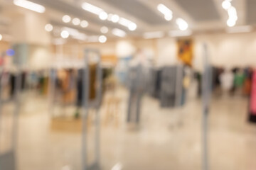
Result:
<instances>
[{"instance_id":1,"label":"cream back wall right of the orange poster, above clothes racks","mask_svg":"<svg viewBox=\"0 0 256 170\"><path fill-rule=\"evenodd\" d=\"M208 44L211 62L225 67L256 66L256 33L198 35L195 59L201 60L202 44Z\"/></svg>"}]
</instances>

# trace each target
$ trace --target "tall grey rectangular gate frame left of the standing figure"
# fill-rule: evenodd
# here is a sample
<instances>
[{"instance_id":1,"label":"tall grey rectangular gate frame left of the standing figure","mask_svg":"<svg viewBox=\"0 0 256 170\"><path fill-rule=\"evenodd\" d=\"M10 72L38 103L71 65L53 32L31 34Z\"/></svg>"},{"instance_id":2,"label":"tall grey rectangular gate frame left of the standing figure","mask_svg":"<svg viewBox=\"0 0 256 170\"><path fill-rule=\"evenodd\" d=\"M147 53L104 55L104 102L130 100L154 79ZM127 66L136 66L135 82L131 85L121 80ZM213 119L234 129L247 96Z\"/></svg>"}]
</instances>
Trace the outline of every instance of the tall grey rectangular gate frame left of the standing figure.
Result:
<instances>
[{"instance_id":1,"label":"tall grey rectangular gate frame left of the standing figure","mask_svg":"<svg viewBox=\"0 0 256 170\"><path fill-rule=\"evenodd\" d=\"M93 57L93 58L91 58ZM90 61L97 63L96 67L96 98L89 101L90 94ZM102 69L101 56L98 50L85 49L85 69L83 74L83 109L82 109L82 170L98 170L100 169L100 103L102 100ZM91 165L87 163L87 117L89 109L96 110L95 121L95 162Z\"/></svg>"}]
</instances>

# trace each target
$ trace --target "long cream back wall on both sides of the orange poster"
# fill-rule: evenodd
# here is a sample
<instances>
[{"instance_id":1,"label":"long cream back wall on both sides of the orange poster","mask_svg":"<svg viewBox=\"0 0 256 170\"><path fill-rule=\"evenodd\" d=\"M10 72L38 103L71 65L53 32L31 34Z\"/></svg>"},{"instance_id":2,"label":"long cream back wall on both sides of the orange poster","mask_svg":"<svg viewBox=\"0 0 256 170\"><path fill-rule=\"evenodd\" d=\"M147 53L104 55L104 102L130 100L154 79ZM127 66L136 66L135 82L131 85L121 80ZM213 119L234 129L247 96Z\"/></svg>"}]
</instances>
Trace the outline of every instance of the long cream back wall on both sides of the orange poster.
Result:
<instances>
[{"instance_id":1,"label":"long cream back wall on both sides of the orange poster","mask_svg":"<svg viewBox=\"0 0 256 170\"><path fill-rule=\"evenodd\" d=\"M202 69L203 44L208 46L210 62L220 67L256 66L256 33L243 34L204 34L193 36L193 67ZM176 38L156 40L118 40L105 44L91 43L80 45L80 55L86 47L99 49L102 55L117 57L133 56L137 49L143 49L154 57L157 66L177 64ZM71 47L63 46L64 54L72 55Z\"/></svg>"}]
</instances>

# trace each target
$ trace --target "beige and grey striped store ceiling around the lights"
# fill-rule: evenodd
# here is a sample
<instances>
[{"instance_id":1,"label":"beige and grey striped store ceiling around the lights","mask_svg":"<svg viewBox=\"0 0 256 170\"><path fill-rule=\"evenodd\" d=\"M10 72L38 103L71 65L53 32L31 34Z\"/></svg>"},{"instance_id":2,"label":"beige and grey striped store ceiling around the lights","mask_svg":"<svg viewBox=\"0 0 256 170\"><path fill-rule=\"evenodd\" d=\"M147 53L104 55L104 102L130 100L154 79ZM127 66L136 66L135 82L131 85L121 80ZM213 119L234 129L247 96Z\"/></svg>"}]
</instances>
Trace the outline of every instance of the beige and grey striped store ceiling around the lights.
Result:
<instances>
[{"instance_id":1,"label":"beige and grey striped store ceiling around the lights","mask_svg":"<svg viewBox=\"0 0 256 170\"><path fill-rule=\"evenodd\" d=\"M225 29L228 14L221 8L223 0L30 0L46 6L48 21L54 26L69 26L77 28L88 35L99 35L100 28L119 28L130 36L140 36L142 33L154 30L177 30L175 18L183 18L194 31L210 31ZM137 23L137 30L130 31L124 26L110 21L101 21L95 14L84 11L82 2L88 2L103 8L107 13L119 16ZM255 0L233 0L233 6L238 11L238 25L256 23ZM164 20L156 6L164 4L174 13L172 21ZM17 7L12 0L0 0L0 31L8 32L7 26L11 17L6 11L15 11ZM90 23L87 28L63 23L61 18L68 14L71 17L84 19ZM6 30L5 30L6 28ZM110 35L111 36L111 35Z\"/></svg>"}]
</instances>

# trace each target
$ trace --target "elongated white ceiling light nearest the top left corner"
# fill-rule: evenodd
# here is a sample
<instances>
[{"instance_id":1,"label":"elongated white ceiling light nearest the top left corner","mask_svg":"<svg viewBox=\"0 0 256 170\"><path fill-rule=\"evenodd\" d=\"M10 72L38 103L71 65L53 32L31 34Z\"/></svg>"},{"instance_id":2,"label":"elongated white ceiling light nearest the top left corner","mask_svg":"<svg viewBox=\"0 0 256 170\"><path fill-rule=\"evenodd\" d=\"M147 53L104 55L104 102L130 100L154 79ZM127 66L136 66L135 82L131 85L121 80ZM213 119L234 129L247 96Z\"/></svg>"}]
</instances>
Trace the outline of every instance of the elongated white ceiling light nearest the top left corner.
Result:
<instances>
[{"instance_id":1,"label":"elongated white ceiling light nearest the top left corner","mask_svg":"<svg viewBox=\"0 0 256 170\"><path fill-rule=\"evenodd\" d=\"M27 8L31 11L35 11L38 13L44 13L46 11L46 8L44 6L41 6L39 4L33 3L31 1L26 0L14 0L14 4L16 6L21 6L23 8Z\"/></svg>"}]
</instances>

